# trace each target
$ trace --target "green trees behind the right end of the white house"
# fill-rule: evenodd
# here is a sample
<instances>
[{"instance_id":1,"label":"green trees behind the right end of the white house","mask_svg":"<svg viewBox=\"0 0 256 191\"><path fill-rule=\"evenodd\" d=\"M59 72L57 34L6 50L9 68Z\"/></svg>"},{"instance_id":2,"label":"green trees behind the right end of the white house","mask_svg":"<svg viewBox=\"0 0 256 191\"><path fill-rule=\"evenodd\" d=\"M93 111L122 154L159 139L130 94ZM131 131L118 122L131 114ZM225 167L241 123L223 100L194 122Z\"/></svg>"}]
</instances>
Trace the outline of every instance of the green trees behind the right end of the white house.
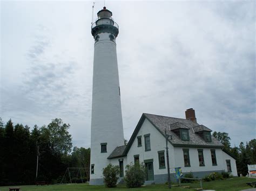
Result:
<instances>
[{"instance_id":1,"label":"green trees behind the right end of the white house","mask_svg":"<svg viewBox=\"0 0 256 191\"><path fill-rule=\"evenodd\" d=\"M231 138L228 136L228 133L214 131L213 136L217 138L224 145L225 149L236 159L238 175L247 175L247 165L256 164L256 139L252 139L250 142L246 142L246 144L241 142L239 146L231 147Z\"/></svg>"}]
</instances>

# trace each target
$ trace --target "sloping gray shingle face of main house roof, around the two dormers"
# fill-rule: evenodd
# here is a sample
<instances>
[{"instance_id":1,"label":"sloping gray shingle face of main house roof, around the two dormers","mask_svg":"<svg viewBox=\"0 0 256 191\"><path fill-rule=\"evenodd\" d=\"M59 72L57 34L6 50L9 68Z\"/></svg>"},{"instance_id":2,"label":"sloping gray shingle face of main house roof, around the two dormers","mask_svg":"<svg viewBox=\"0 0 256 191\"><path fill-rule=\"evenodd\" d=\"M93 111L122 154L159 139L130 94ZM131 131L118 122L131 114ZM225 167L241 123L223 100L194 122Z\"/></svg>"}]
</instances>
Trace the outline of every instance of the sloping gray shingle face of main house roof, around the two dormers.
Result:
<instances>
[{"instance_id":1,"label":"sloping gray shingle face of main house roof, around the two dormers","mask_svg":"<svg viewBox=\"0 0 256 191\"><path fill-rule=\"evenodd\" d=\"M170 142L174 146L198 146L198 147L223 147L223 144L221 144L215 137L212 136L212 142L205 142L203 138L201 138L197 133L193 132L193 127L199 126L198 123L194 123L187 119L180 119L180 118L174 118L174 117L165 117L165 116L159 116L159 115L152 115L152 114L144 114L149 121L156 126L156 128L163 133L166 129L166 132L168 135L171 135ZM189 135L190 140L181 140L176 133L170 131L169 124L174 123L181 123L187 126L189 128ZM206 127L205 127L206 128ZM207 128L208 129L208 128ZM210 130L210 129L208 129Z\"/></svg>"}]
</instances>

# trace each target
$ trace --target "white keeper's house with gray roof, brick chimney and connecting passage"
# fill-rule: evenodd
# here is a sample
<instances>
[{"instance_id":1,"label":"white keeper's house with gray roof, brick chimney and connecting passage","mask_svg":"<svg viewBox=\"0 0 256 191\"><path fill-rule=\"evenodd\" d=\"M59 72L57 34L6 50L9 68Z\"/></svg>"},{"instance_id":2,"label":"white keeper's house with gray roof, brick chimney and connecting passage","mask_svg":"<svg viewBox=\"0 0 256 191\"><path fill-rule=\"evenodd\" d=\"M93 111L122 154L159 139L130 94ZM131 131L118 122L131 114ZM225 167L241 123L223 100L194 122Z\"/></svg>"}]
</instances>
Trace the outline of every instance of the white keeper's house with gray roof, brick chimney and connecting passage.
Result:
<instances>
[{"instance_id":1,"label":"white keeper's house with gray roof, brick chimney and connecting passage","mask_svg":"<svg viewBox=\"0 0 256 191\"><path fill-rule=\"evenodd\" d=\"M116 147L107 159L120 166L121 176L126 164L139 160L146 166L146 183L166 182L166 130L171 179L176 179L176 167L199 178L223 171L237 176L234 157L211 135L212 130L197 123L193 109L185 113L186 119L143 114L129 143Z\"/></svg>"}]
</instances>

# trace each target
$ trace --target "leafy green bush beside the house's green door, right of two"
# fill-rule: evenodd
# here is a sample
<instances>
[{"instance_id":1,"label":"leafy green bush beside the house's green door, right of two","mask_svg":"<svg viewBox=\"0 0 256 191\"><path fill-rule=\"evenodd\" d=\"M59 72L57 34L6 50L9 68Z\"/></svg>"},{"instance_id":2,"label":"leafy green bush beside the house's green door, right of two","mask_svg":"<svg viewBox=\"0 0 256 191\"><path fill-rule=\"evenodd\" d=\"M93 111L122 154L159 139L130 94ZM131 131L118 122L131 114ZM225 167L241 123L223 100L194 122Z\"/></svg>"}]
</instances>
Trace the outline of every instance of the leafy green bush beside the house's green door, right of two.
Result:
<instances>
[{"instance_id":1,"label":"leafy green bush beside the house's green door, right of two","mask_svg":"<svg viewBox=\"0 0 256 191\"><path fill-rule=\"evenodd\" d=\"M134 165L126 165L124 181L127 188L142 186L145 181L144 165L139 162L136 162Z\"/></svg>"}]
</instances>

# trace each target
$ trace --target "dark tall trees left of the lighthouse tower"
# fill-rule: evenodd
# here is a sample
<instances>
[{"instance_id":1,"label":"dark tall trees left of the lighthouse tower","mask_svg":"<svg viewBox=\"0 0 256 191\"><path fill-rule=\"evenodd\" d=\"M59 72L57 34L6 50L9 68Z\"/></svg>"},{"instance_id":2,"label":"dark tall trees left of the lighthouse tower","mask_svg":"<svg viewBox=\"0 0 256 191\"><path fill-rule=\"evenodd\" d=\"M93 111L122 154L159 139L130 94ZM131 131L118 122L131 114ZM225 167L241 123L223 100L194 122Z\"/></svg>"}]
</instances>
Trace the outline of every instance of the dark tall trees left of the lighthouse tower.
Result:
<instances>
[{"instance_id":1,"label":"dark tall trees left of the lighthouse tower","mask_svg":"<svg viewBox=\"0 0 256 191\"><path fill-rule=\"evenodd\" d=\"M68 167L86 168L83 178L89 180L90 148L72 149L69 128L58 118L32 129L14 125L11 119L4 124L0 118L0 186L33 185L36 181L60 183Z\"/></svg>"}]
</instances>

